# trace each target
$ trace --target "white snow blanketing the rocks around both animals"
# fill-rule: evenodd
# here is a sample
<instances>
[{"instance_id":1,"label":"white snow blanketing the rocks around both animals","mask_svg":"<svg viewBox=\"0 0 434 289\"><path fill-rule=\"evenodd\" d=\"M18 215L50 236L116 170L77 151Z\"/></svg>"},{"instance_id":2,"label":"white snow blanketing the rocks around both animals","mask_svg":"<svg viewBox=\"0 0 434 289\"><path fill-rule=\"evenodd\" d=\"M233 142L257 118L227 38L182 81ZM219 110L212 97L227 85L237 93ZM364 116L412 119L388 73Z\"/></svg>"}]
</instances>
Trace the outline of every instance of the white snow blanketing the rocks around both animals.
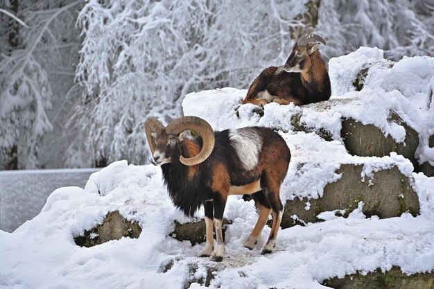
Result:
<instances>
[{"instance_id":1,"label":"white snow blanketing the rocks around both animals","mask_svg":"<svg viewBox=\"0 0 434 289\"><path fill-rule=\"evenodd\" d=\"M270 103L262 117L254 105L241 105L246 91L234 88L189 94L182 106L184 115L200 116L215 130L249 125L279 130L292 155L282 200L321 197L324 186L340 178L335 171L341 164L363 164L365 181L374 171L398 166L417 192L419 216L366 218L363 203L349 218L324 212L320 216L324 222L279 230L275 251L263 256L260 248L270 228L266 226L252 251L244 248L258 214L252 201L231 196L225 210L225 217L232 220L226 231L225 259L213 263L198 257L205 244L192 246L168 236L175 220L191 220L168 199L160 168L116 161L91 175L85 189L55 190L42 212L13 233L0 231L0 288L184 288L191 279L189 264L198 268L196 279L206 277L206 268L214 268L211 288L327 288L321 285L324 279L392 266L406 274L431 272L434 177L414 173L410 161L396 153L381 158L351 156L340 139L340 118L352 117L403 141L401 125L388 119L392 110L421 135L419 161L434 164L433 148L428 146L434 132L434 58L404 58L392 68L390 64L379 49L361 48L333 58L331 100L304 107ZM365 87L354 91L356 73L370 65ZM295 132L290 124L294 114L315 130L329 130L334 140L324 141L315 132ZM89 248L74 243L73 237L114 210L139 221L143 228L139 238ZM196 218L203 216L200 209ZM171 261L173 266L164 272ZM191 283L189 288L205 286Z\"/></svg>"}]
</instances>

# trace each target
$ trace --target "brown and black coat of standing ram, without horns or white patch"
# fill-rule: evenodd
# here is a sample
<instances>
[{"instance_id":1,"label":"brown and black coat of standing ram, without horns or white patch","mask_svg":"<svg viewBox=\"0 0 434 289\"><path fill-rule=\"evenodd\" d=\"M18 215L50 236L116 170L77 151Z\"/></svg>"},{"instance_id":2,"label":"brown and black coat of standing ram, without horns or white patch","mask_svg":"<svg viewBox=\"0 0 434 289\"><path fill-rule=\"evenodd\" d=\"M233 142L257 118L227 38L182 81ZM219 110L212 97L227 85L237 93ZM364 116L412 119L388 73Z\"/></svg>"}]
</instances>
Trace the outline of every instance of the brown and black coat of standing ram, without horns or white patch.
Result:
<instances>
[{"instance_id":1,"label":"brown and black coat of standing ram, without horns or white patch","mask_svg":"<svg viewBox=\"0 0 434 289\"><path fill-rule=\"evenodd\" d=\"M207 224L209 220L214 220L217 231L216 247L220 248L214 253L216 261L223 259L224 243L220 226L228 195L253 194L261 211L257 225L245 243L245 247L252 249L270 211L273 212L273 227L268 243L263 249L264 254L271 252L277 237L279 215L284 209L279 197L280 186L286 177L290 151L284 139L276 132L259 127L245 129L246 133L253 131L255 137L260 137L258 141L261 141L262 147L257 166L252 170L243 168L243 161L238 157L236 144L229 138L229 130L215 132L216 141L211 155L195 166L184 166L179 158L180 155L184 157L197 155L202 147L200 137L194 140L177 139L176 144L167 144L166 134L161 134L157 138L156 149L164 151L165 157L171 159L170 163L162 164L162 172L169 196L175 206L186 216L193 216L203 205L205 216L208 218ZM203 256L209 256L211 254L209 248L214 246L214 240L209 239L209 236L212 236L212 226L207 225L207 236Z\"/></svg>"}]
</instances>

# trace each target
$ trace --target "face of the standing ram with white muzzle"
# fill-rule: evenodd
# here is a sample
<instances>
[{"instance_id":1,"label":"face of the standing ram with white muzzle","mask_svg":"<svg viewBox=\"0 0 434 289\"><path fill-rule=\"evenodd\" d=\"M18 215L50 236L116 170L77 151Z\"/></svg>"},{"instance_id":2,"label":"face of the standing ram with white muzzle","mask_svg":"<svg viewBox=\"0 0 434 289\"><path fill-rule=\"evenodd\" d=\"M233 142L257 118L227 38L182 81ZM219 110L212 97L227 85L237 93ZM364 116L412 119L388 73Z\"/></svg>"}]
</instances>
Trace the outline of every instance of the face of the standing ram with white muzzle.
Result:
<instances>
[{"instance_id":1,"label":"face of the standing ram with white muzzle","mask_svg":"<svg viewBox=\"0 0 434 289\"><path fill-rule=\"evenodd\" d=\"M154 164L160 166L162 164L168 164L172 161L173 152L178 147L177 136L173 134L155 134L152 133L155 152L153 154Z\"/></svg>"}]
</instances>

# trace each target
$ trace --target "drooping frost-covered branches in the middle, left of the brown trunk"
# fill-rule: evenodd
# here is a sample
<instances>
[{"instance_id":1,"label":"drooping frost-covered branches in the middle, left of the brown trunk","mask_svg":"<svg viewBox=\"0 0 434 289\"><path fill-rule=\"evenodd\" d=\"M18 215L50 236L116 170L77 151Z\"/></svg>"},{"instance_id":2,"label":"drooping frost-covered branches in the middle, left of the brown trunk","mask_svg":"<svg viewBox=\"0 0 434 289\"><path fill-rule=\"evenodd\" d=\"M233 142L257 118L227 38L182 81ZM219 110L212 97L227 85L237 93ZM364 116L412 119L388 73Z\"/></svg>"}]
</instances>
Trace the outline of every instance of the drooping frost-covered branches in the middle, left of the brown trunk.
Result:
<instances>
[{"instance_id":1,"label":"drooping frost-covered branches in the middle, left of the brown trunk","mask_svg":"<svg viewBox=\"0 0 434 289\"><path fill-rule=\"evenodd\" d=\"M143 163L148 116L173 119L187 92L245 87L283 62L305 2L89 1L78 17L87 94L75 118L87 148L96 159Z\"/></svg>"}]
</instances>

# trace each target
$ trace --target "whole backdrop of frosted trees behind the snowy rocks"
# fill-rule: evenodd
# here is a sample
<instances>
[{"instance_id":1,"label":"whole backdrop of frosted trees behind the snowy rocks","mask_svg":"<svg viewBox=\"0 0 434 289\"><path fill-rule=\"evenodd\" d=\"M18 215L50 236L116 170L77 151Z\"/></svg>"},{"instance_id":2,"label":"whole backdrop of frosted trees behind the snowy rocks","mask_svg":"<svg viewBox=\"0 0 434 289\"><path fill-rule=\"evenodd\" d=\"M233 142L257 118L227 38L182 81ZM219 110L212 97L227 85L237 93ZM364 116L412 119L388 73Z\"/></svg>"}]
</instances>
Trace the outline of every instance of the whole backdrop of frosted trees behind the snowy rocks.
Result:
<instances>
[{"instance_id":1,"label":"whole backdrop of frosted trees behind the snowy rocks","mask_svg":"<svg viewBox=\"0 0 434 289\"><path fill-rule=\"evenodd\" d=\"M433 56L433 27L431 0L0 0L0 169L145 164L148 116L248 88L300 33L399 60Z\"/></svg>"}]
</instances>

